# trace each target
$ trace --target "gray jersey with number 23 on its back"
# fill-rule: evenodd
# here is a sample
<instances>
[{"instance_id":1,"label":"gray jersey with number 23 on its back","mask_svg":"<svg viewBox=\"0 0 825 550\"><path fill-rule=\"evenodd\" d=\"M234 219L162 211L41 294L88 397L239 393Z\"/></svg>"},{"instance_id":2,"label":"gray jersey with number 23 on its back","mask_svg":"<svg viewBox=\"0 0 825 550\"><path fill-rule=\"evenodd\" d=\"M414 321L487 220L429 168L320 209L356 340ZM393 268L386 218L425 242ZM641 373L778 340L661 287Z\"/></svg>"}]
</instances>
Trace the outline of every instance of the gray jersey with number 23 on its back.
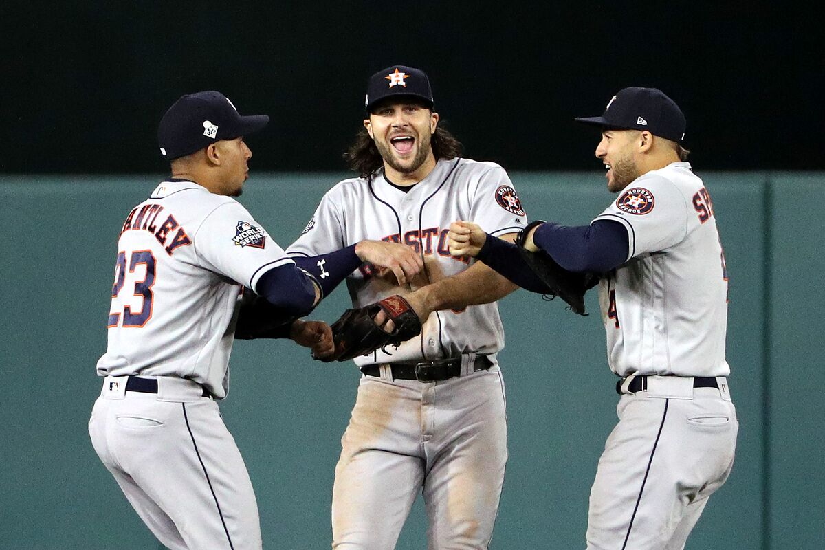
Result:
<instances>
[{"instance_id":1,"label":"gray jersey with number 23 on its back","mask_svg":"<svg viewBox=\"0 0 825 550\"><path fill-rule=\"evenodd\" d=\"M135 206L118 251L97 374L190 378L225 397L242 287L295 262L237 200L191 181Z\"/></svg>"}]
</instances>

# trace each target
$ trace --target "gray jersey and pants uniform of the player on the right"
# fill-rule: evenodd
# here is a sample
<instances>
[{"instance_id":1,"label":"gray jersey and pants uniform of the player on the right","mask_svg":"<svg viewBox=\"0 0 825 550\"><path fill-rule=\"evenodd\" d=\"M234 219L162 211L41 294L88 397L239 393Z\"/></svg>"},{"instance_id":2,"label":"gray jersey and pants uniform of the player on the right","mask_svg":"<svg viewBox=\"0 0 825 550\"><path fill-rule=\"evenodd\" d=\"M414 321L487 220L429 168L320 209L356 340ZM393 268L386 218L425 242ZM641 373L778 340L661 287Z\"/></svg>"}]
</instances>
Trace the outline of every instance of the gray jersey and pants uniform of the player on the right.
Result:
<instances>
[{"instance_id":1,"label":"gray jersey and pants uniform of the player on the right","mask_svg":"<svg viewBox=\"0 0 825 550\"><path fill-rule=\"evenodd\" d=\"M673 162L596 219L629 237L628 261L599 289L610 369L629 378L593 482L587 548L680 550L728 478L738 432L713 203L690 164ZM631 389L634 375L647 378Z\"/></svg>"}]
</instances>

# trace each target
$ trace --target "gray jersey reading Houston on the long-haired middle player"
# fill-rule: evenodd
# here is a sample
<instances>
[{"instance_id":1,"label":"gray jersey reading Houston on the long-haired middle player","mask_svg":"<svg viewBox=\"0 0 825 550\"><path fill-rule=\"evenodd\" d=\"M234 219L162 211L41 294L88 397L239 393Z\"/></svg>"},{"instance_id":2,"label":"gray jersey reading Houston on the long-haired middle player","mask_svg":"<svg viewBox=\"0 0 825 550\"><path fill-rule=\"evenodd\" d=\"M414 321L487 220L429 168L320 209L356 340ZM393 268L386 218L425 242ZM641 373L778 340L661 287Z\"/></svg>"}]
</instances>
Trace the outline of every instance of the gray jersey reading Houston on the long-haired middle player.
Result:
<instances>
[{"instance_id":1,"label":"gray jersey reading Houston on the long-haired middle player","mask_svg":"<svg viewBox=\"0 0 825 550\"><path fill-rule=\"evenodd\" d=\"M457 219L474 220L487 233L521 231L526 214L502 167L466 158L440 161L408 193L376 176L372 181L341 181L323 196L304 233L289 248L290 255L318 256L366 239L403 242L422 253L425 273L410 288L394 280L358 270L347 278L355 307L392 294L408 294L467 269L470 261L450 256L447 233ZM320 276L320 271L313 275ZM432 313L422 335L389 353L357 358L356 364L398 360L436 359L466 353L494 359L504 346L504 330L497 303L472 305L461 311Z\"/></svg>"}]
</instances>

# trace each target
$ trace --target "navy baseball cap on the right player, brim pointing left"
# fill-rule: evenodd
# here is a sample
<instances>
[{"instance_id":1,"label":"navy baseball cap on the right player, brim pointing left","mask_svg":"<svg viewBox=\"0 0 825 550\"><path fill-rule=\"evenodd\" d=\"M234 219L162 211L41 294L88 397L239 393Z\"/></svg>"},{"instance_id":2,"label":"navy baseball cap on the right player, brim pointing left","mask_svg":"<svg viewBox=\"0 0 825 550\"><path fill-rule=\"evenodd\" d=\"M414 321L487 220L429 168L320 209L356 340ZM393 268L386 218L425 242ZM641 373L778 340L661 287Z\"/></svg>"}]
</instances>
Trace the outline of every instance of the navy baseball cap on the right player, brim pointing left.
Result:
<instances>
[{"instance_id":1,"label":"navy baseball cap on the right player, brim pointing left","mask_svg":"<svg viewBox=\"0 0 825 550\"><path fill-rule=\"evenodd\" d=\"M685 115L670 97L656 88L624 88L613 96L604 114L576 120L607 128L648 130L676 143L685 139Z\"/></svg>"}]
</instances>

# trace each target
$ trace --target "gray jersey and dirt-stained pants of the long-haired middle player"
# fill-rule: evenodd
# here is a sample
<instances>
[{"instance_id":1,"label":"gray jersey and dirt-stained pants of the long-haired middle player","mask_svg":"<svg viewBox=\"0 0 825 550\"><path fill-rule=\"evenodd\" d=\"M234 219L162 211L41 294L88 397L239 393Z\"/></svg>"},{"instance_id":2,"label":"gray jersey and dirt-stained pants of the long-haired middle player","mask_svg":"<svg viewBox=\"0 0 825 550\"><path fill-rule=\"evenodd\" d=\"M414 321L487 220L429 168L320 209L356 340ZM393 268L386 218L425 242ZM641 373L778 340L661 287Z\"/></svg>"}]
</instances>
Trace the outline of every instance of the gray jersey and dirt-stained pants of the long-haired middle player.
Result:
<instances>
[{"instance_id":1,"label":"gray jersey and dirt-stained pants of the long-haired middle player","mask_svg":"<svg viewBox=\"0 0 825 550\"><path fill-rule=\"evenodd\" d=\"M353 273L347 285L361 306L468 269L470 262L451 257L447 246L458 219L494 235L526 225L502 167L441 160L407 193L381 172L338 183L288 252L316 256L383 239L422 254L425 270L403 288L368 267ZM422 336L356 359L365 365L461 357L463 368L460 377L431 383L394 379L386 365L380 377L361 377L335 470L333 548L394 548L422 487L429 548L488 547L507 462L504 383L495 360L502 346L497 304L487 303L432 313ZM474 372L477 354L488 355L493 367Z\"/></svg>"}]
</instances>

